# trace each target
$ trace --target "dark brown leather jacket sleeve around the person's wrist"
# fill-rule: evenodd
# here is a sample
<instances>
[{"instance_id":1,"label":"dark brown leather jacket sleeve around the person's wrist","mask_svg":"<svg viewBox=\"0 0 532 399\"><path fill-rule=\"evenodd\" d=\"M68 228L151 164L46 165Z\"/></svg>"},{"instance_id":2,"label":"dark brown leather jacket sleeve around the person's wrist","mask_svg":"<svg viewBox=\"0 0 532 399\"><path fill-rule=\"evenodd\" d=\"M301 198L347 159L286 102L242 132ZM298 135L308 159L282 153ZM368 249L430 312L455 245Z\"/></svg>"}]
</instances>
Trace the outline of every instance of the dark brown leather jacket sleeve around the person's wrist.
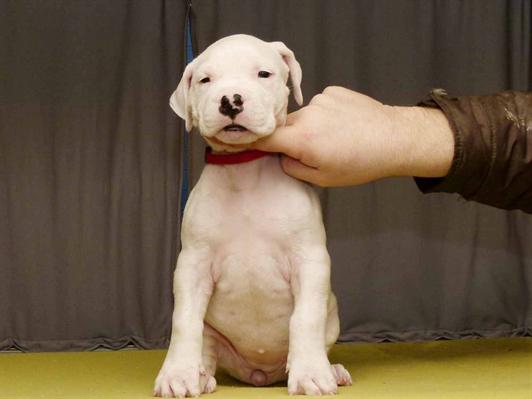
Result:
<instances>
[{"instance_id":1,"label":"dark brown leather jacket sleeve around the person's wrist","mask_svg":"<svg viewBox=\"0 0 532 399\"><path fill-rule=\"evenodd\" d=\"M435 90L420 105L440 108L455 139L447 176L415 178L423 193L458 193L467 200L532 213L532 93L451 98Z\"/></svg>"}]
</instances>

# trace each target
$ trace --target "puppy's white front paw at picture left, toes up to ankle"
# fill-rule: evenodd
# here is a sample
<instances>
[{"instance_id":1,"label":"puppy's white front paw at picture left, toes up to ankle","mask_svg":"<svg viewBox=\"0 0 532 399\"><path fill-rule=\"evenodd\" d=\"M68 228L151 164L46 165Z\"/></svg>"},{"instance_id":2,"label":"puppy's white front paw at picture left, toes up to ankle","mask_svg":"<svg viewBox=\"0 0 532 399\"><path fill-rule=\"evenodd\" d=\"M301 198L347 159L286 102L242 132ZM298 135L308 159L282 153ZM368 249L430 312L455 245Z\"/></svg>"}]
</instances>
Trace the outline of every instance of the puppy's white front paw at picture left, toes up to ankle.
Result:
<instances>
[{"instance_id":1,"label":"puppy's white front paw at picture left, toes up to ankle","mask_svg":"<svg viewBox=\"0 0 532 399\"><path fill-rule=\"evenodd\" d=\"M154 396L163 398L196 397L216 389L216 380L200 365L164 365L155 380Z\"/></svg>"}]
</instances>

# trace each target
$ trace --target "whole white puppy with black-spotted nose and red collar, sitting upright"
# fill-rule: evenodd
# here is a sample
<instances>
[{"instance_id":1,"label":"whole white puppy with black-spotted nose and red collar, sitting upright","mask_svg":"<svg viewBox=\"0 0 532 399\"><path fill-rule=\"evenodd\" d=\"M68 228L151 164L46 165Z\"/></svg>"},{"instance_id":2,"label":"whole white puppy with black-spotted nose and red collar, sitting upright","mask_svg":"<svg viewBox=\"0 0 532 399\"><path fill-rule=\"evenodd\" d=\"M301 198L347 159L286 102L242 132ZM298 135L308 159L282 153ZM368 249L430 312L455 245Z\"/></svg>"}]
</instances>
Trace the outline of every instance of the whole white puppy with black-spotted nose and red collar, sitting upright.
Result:
<instances>
[{"instance_id":1,"label":"whole white puppy with black-spotted nose and red collar, sitting upright","mask_svg":"<svg viewBox=\"0 0 532 399\"><path fill-rule=\"evenodd\" d=\"M278 156L234 153L234 144L242 151L285 123L289 73L301 105L292 51L229 36L186 67L171 97L213 152L185 210L157 396L212 392L217 366L257 386L288 377L290 394L332 394L351 383L327 358L339 321L317 195L283 173Z\"/></svg>"}]
</instances>

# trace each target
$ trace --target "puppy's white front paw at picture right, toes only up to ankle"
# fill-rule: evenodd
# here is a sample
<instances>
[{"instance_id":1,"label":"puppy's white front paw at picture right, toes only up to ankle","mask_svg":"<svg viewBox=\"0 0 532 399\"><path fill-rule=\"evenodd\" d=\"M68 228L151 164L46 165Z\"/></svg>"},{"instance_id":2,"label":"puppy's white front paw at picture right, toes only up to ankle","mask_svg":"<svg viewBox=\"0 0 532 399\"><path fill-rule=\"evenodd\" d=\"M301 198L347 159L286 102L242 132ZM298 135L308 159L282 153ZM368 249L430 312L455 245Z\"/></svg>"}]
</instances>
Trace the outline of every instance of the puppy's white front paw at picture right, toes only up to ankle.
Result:
<instances>
[{"instance_id":1,"label":"puppy's white front paw at picture right, toes only up to ankle","mask_svg":"<svg viewBox=\"0 0 532 399\"><path fill-rule=\"evenodd\" d=\"M291 362L288 373L290 395L334 395L338 389L327 358L322 360L301 359Z\"/></svg>"}]
</instances>

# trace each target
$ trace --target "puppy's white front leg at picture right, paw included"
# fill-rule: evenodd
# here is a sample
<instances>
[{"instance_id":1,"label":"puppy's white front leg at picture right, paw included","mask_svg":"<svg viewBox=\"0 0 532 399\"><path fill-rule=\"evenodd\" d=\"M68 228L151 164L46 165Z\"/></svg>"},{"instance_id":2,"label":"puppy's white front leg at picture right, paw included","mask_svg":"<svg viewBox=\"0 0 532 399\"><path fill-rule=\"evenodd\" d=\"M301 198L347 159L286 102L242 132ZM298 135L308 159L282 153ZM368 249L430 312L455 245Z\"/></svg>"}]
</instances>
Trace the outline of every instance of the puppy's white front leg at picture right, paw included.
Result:
<instances>
[{"instance_id":1,"label":"puppy's white front leg at picture right, paw included","mask_svg":"<svg viewBox=\"0 0 532 399\"><path fill-rule=\"evenodd\" d=\"M325 342L330 295L330 259L326 248L295 256L292 270L294 313L290 319L288 393L334 394L337 384Z\"/></svg>"}]
</instances>

